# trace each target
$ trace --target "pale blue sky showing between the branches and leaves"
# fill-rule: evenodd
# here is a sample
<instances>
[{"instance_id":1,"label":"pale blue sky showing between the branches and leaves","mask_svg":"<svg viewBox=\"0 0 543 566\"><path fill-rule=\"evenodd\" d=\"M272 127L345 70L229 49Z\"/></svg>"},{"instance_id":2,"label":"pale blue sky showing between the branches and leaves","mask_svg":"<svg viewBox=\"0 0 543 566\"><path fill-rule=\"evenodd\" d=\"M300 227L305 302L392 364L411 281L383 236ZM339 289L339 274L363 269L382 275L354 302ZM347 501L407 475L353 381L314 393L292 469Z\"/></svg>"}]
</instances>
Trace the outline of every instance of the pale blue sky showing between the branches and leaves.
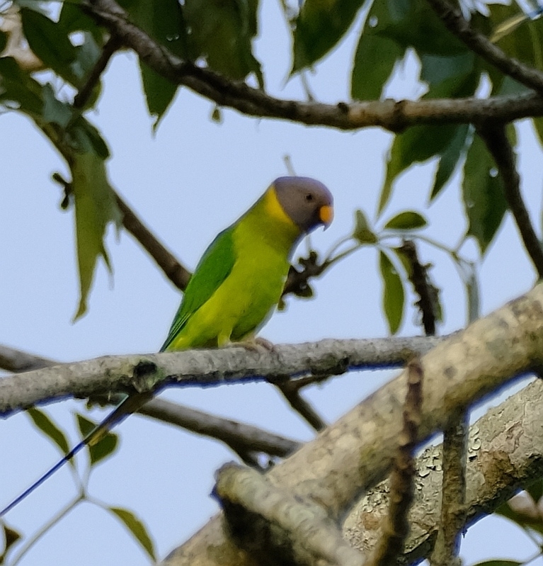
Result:
<instances>
[{"instance_id":1,"label":"pale blue sky showing between the branches and leaves","mask_svg":"<svg viewBox=\"0 0 543 566\"><path fill-rule=\"evenodd\" d=\"M261 36L256 55L264 64L268 91L282 98L303 98L299 79L287 81L290 38L279 3L261 3ZM319 101L348 99L348 77L355 33L309 74ZM415 98L416 61L408 57L397 69L387 96ZM276 120L258 120L222 110L220 125L210 120L213 105L181 89L156 135L142 96L137 58L114 57L103 82L98 111L88 118L101 130L112 153L110 182L183 264L194 268L215 234L236 220L275 177L285 174L288 154L299 175L324 182L335 196L333 225L311 237L326 252L353 229L356 208L375 217L391 135L372 128L339 132ZM108 234L114 275L101 265L87 315L75 324L78 300L73 213L59 208L62 195L51 174L67 169L50 143L21 115L0 116L0 344L59 361L104 354L144 353L159 349L178 307L180 293L130 234ZM541 149L529 123L519 128L522 190L537 230L542 204ZM406 208L425 210L435 163L409 170L396 182L383 218ZM426 234L455 246L466 230L459 198L459 172L425 210ZM383 222L381 222L382 225ZM305 251L302 243L300 251ZM442 289L445 334L464 326L466 300L455 267L447 257L421 246L421 258L433 264ZM465 256L476 259L467 242ZM386 336L381 312L382 286L374 249L363 249L315 281L314 300L287 299L287 310L268 322L261 335L275 343L334 338ZM488 313L528 290L535 273L518 234L507 217L481 265L481 310ZM413 302L409 295L408 304ZM412 307L401 335L420 334ZM351 373L312 387L305 394L333 421L385 383L394 372ZM206 390L168 390L168 399L224 417L239 419L299 440L313 432L264 384L231 385ZM502 397L503 398L503 397ZM47 412L76 441L73 412L82 402L63 402ZM105 412L96 410L95 418ZM234 455L221 443L201 438L145 417L131 417L118 429L118 453L98 465L89 492L113 506L132 509L147 523L159 557L183 542L217 511L209 497L213 473ZM28 487L59 454L35 431L25 414L1 421L0 504ZM79 458L84 469L85 458ZM40 487L8 515L8 523L32 535L73 496L69 466ZM487 557L522 559L536 552L530 541L504 519L488 519L471 528L462 557L473 564ZM21 565L101 563L144 565L147 556L112 516L81 504L40 540Z\"/></svg>"}]
</instances>

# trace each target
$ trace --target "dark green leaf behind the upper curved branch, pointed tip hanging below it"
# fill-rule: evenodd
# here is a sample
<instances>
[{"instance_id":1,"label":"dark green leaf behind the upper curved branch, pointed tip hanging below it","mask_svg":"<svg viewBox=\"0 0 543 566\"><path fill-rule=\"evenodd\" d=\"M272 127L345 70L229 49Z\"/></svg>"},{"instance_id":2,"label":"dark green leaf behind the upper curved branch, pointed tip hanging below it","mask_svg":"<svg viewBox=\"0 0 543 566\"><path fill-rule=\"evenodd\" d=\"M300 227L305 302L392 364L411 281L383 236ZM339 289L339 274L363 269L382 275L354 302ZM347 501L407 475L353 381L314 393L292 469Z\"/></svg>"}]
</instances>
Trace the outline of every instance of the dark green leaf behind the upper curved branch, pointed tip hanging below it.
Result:
<instances>
[{"instance_id":1,"label":"dark green leaf behind the upper curved branch, pointed tip hanging below it","mask_svg":"<svg viewBox=\"0 0 543 566\"><path fill-rule=\"evenodd\" d=\"M174 55L189 58L185 18L178 0L137 1L130 6L130 17L137 26ZM156 129L170 106L178 85L161 77L142 61L139 62L139 68L147 108L149 114L156 118L153 126Z\"/></svg>"}]
</instances>

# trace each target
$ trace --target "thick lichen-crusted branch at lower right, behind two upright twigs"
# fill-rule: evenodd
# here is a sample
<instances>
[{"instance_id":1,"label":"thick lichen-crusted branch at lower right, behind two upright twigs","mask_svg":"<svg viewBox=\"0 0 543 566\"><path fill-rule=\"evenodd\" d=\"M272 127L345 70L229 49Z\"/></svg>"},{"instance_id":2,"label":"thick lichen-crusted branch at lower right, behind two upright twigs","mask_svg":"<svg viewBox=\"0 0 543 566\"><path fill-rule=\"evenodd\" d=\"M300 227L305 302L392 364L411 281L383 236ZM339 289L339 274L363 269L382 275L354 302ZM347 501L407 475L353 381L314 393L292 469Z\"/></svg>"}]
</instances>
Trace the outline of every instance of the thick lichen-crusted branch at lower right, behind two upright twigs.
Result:
<instances>
[{"instance_id":1,"label":"thick lichen-crusted branch at lower right, behind two upright twigs","mask_svg":"<svg viewBox=\"0 0 543 566\"><path fill-rule=\"evenodd\" d=\"M543 475L543 381L535 380L469 429L466 470L466 528L492 513L520 487ZM409 511L411 532L401 564L428 557L438 537L442 488L442 446L428 448L416 460L415 499ZM387 515L388 480L356 504L343 525L345 537L370 552ZM174 563L175 564L175 563Z\"/></svg>"}]
</instances>

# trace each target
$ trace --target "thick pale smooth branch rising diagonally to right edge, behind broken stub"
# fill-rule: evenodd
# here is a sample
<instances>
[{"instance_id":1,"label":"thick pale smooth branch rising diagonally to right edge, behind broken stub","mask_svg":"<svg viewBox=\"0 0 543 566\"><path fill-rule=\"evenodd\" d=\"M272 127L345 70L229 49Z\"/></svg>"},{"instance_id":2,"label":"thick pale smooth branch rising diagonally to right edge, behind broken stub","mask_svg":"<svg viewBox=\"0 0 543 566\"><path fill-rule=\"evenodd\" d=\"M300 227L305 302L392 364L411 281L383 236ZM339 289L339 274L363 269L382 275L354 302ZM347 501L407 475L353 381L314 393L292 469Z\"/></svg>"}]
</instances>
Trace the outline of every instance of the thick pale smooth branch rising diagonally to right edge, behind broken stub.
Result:
<instances>
[{"instance_id":1,"label":"thick pale smooth branch rising diagonally to right edge, behind broken stub","mask_svg":"<svg viewBox=\"0 0 543 566\"><path fill-rule=\"evenodd\" d=\"M539 284L423 356L425 395L418 441L443 429L453 414L536 366L542 357L543 284ZM270 481L297 497L319 501L332 518L343 516L361 492L389 471L405 395L406 378L399 375L270 470ZM209 553L209 548L214 552ZM172 553L166 564L217 565L215 557L220 557L222 566L249 563L224 536L220 516Z\"/></svg>"}]
</instances>

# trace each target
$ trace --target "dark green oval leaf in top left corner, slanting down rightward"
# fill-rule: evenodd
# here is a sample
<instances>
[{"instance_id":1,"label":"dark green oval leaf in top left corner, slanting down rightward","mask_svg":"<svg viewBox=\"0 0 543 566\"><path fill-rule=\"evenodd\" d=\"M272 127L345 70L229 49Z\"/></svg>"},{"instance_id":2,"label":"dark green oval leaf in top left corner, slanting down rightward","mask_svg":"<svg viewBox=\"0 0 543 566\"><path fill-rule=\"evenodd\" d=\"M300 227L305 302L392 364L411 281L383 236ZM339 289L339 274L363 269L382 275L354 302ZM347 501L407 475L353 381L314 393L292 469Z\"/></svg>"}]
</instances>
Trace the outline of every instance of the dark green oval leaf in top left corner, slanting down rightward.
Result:
<instances>
[{"instance_id":1,"label":"dark green oval leaf in top left corner, slanting down rightward","mask_svg":"<svg viewBox=\"0 0 543 566\"><path fill-rule=\"evenodd\" d=\"M49 67L69 83L81 86L72 69L72 62L77 57L76 48L62 27L47 16L28 8L21 8L21 21L30 49L45 67Z\"/></svg>"}]
</instances>

